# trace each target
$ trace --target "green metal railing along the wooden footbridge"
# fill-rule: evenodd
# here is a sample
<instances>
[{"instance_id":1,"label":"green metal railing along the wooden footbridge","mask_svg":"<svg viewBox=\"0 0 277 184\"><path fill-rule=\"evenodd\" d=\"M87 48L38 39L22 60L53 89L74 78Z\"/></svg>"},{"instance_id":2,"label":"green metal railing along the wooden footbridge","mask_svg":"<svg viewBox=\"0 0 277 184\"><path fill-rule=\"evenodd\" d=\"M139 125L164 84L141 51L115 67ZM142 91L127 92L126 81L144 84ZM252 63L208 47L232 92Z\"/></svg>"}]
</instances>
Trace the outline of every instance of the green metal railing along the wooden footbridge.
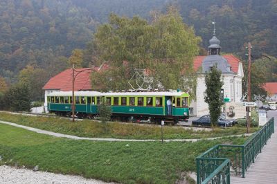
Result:
<instances>
[{"instance_id":1,"label":"green metal railing along the wooden footbridge","mask_svg":"<svg viewBox=\"0 0 277 184\"><path fill-rule=\"evenodd\" d=\"M245 172L274 133L274 118L243 145L215 145L196 158L197 184L230 183L230 174L245 177Z\"/></svg>"}]
</instances>

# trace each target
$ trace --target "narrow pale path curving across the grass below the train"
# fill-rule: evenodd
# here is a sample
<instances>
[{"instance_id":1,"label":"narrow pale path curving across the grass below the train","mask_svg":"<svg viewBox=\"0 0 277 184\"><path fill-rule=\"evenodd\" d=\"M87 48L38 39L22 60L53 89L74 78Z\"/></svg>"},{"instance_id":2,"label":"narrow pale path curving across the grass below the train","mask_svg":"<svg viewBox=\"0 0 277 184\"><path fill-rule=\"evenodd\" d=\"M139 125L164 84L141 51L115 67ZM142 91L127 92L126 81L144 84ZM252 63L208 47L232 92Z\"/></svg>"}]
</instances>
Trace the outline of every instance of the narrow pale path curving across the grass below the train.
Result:
<instances>
[{"instance_id":1,"label":"narrow pale path curving across the grass below the train","mask_svg":"<svg viewBox=\"0 0 277 184\"><path fill-rule=\"evenodd\" d=\"M46 131L42 129L35 129L33 127L27 127L24 125L18 125L13 122L6 122L6 121L1 121L0 123L6 124L6 125L12 125L14 127L20 127L23 129L27 129L30 131L35 131L39 134L46 134L50 136L55 136L55 137L60 137L60 138L71 138L75 140L102 140L102 141L123 141L123 142L154 142L154 141L161 141L159 139L120 139L120 138L84 138L84 137L78 137L78 136L71 136L71 135L66 135L66 134L60 134L60 133L55 133L52 131ZM215 140L218 138L228 138L228 137L240 137L240 136L251 136L252 134L242 134L242 135L233 135L233 136L222 136L222 137L217 137L217 138L192 138L192 139L166 139L163 140L164 142L170 142L170 141L175 141L175 142L197 142L198 140Z\"/></svg>"}]
</instances>

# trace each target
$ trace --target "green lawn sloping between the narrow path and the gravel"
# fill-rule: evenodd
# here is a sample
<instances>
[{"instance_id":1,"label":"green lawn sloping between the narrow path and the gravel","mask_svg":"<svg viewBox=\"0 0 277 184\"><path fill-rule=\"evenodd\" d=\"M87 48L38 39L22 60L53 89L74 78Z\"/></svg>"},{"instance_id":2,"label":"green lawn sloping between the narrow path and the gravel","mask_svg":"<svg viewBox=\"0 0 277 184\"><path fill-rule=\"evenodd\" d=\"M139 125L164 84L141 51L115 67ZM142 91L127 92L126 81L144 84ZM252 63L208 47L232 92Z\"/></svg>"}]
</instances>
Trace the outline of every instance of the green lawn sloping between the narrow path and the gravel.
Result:
<instances>
[{"instance_id":1,"label":"green lawn sloping between the narrow path and the gravel","mask_svg":"<svg viewBox=\"0 0 277 184\"><path fill-rule=\"evenodd\" d=\"M175 183L195 171L195 158L213 145L246 138L199 142L103 142L53 138L0 124L0 155L8 165L118 183ZM129 145L129 146L126 146ZM3 163L2 162L2 163Z\"/></svg>"}]
</instances>

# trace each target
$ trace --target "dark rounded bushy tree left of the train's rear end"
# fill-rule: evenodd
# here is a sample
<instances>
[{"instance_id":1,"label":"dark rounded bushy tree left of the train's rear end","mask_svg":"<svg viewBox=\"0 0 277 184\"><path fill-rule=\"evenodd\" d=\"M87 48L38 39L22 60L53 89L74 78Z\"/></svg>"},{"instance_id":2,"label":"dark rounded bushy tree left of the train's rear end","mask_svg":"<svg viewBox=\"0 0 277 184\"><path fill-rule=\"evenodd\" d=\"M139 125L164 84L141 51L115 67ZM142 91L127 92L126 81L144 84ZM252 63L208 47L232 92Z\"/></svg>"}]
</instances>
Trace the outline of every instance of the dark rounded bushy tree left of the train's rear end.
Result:
<instances>
[{"instance_id":1,"label":"dark rounded bushy tree left of the train's rear end","mask_svg":"<svg viewBox=\"0 0 277 184\"><path fill-rule=\"evenodd\" d=\"M12 111L30 111L30 90L26 84L18 83L10 87L4 100Z\"/></svg>"}]
</instances>

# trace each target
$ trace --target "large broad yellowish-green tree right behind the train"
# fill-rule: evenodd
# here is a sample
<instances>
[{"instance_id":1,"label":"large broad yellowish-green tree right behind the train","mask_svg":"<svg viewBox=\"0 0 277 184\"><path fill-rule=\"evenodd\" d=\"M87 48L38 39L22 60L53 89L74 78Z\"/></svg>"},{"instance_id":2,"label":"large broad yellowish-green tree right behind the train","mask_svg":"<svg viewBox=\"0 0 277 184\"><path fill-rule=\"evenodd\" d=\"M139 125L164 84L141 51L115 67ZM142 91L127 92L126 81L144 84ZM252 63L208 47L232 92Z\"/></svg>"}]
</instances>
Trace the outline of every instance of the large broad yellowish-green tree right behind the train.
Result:
<instances>
[{"instance_id":1,"label":"large broad yellowish-green tree right behind the train","mask_svg":"<svg viewBox=\"0 0 277 184\"><path fill-rule=\"evenodd\" d=\"M114 84L105 87L109 90L116 90L118 86L129 89L126 81L132 69L144 68L151 71L150 77L161 83L163 89L192 91L195 85L188 84L196 83L193 59L198 54L200 41L193 28L186 26L172 7L166 14L156 15L150 24L140 17L129 19L111 14L109 24L100 26L93 39L96 53L111 66L109 76L105 77ZM97 81L103 76L93 77ZM184 82L191 79L194 82Z\"/></svg>"}]
</instances>

